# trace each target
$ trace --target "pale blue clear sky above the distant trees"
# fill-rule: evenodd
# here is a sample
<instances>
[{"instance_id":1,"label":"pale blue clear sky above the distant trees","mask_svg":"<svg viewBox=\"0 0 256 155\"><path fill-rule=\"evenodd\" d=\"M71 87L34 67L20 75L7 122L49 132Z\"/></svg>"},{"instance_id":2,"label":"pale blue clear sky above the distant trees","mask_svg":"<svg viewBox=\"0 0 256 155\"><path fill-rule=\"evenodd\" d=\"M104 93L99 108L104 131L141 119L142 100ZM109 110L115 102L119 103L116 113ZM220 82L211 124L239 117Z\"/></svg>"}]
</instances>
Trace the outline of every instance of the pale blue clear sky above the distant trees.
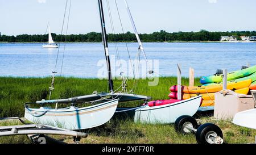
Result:
<instances>
[{"instance_id":1,"label":"pale blue clear sky above the distant trees","mask_svg":"<svg viewBox=\"0 0 256 155\"><path fill-rule=\"evenodd\" d=\"M106 0L103 0L106 4ZM255 0L127 0L139 33L254 31ZM114 0L109 0L115 32L121 32ZM125 31L133 32L123 0L117 0ZM106 5L105 5L106 6ZM61 32L65 0L0 0L0 32L6 35ZM106 7L105 7L106 8ZM109 16L105 9L107 31ZM100 32L97 0L72 0L68 33Z\"/></svg>"}]
</instances>

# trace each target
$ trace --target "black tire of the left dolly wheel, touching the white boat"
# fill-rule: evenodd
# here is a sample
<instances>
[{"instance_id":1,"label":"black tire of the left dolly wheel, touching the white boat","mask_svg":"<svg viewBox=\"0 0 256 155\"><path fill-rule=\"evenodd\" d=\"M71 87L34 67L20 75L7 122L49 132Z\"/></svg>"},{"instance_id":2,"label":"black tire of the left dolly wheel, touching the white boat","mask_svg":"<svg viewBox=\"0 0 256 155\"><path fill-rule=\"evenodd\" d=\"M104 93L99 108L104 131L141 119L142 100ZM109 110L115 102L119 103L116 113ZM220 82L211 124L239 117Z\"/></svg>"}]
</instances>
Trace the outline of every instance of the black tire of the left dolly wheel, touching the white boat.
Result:
<instances>
[{"instance_id":1,"label":"black tire of the left dolly wheel, touching the white boat","mask_svg":"<svg viewBox=\"0 0 256 155\"><path fill-rule=\"evenodd\" d=\"M191 123L193 128L197 127L197 122L196 119L192 118L191 116L188 115L183 115L180 116L179 118L176 119L175 121L175 130L176 132L179 133L183 133L183 134L187 134L187 133L191 133L192 131L184 131L184 124L186 123Z\"/></svg>"}]
</instances>

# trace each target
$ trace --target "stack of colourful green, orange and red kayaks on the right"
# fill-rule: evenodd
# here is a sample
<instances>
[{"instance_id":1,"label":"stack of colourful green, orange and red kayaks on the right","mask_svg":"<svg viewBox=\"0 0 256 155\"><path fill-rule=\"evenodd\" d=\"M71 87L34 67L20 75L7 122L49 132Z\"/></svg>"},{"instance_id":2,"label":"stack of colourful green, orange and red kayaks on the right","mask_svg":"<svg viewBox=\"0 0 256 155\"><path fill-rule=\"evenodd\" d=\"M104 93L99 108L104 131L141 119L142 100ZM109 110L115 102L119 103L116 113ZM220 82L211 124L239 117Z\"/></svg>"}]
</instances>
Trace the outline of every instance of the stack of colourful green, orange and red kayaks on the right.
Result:
<instances>
[{"instance_id":1,"label":"stack of colourful green, orange and red kayaks on the right","mask_svg":"<svg viewBox=\"0 0 256 155\"><path fill-rule=\"evenodd\" d=\"M202 77L200 83L202 86L182 86L181 98L188 99L197 95L202 95L203 102L201 107L214 106L214 94L222 90L223 74L214 74L213 76ZM230 72L227 75L227 88L238 94L248 94L250 89L256 90L256 66ZM177 86L170 88L171 99L177 99Z\"/></svg>"}]
</instances>

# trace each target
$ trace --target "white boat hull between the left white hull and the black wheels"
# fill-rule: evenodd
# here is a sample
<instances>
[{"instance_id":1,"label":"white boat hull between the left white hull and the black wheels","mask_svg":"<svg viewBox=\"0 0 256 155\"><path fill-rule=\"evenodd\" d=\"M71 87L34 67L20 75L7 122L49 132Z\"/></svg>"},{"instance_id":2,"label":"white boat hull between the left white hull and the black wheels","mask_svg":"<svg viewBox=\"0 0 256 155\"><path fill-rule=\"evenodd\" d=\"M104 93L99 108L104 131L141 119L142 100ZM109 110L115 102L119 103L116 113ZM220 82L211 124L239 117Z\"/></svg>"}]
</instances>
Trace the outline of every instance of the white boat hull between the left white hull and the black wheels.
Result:
<instances>
[{"instance_id":1,"label":"white boat hull between the left white hull and the black wheels","mask_svg":"<svg viewBox=\"0 0 256 155\"><path fill-rule=\"evenodd\" d=\"M175 123L182 115L193 116L201 104L201 96L163 106L143 106L135 110L134 121L142 123Z\"/></svg>"}]
</instances>

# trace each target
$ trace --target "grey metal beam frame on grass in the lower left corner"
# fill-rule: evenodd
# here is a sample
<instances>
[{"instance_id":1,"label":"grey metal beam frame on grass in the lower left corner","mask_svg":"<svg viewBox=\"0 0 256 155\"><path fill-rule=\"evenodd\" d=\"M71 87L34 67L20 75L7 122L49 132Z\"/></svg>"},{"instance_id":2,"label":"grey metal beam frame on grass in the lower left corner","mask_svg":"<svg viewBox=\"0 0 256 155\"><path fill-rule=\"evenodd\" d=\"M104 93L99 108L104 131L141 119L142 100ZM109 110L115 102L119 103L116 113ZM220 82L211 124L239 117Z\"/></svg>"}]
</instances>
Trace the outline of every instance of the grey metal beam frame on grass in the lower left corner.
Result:
<instances>
[{"instance_id":1,"label":"grey metal beam frame on grass in the lower left corner","mask_svg":"<svg viewBox=\"0 0 256 155\"><path fill-rule=\"evenodd\" d=\"M75 143L79 143L82 137L87 137L88 134L84 132L71 131L69 129L52 127L43 124L27 124L21 118L1 118L0 120L13 120L18 119L24 125L10 125L0 127L0 136L15 136L27 135L31 143L46 144L46 143L63 143L62 141L53 139L46 135L64 135L73 136Z\"/></svg>"}]
</instances>

